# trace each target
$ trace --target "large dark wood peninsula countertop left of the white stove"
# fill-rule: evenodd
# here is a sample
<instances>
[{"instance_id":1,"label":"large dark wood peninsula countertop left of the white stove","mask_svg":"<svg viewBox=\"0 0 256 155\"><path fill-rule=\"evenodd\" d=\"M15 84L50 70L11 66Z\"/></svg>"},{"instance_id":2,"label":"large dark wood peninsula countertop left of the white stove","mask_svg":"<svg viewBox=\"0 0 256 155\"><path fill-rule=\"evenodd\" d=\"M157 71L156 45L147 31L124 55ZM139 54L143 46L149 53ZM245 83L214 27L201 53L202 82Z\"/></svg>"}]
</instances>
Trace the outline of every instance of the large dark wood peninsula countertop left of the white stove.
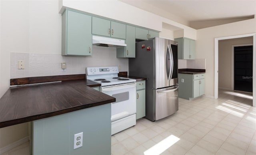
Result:
<instances>
[{"instance_id":1,"label":"large dark wood peninsula countertop left of the white stove","mask_svg":"<svg viewBox=\"0 0 256 155\"><path fill-rule=\"evenodd\" d=\"M96 86L77 79L9 88L0 99L0 128L116 101L90 88Z\"/></svg>"}]
</instances>

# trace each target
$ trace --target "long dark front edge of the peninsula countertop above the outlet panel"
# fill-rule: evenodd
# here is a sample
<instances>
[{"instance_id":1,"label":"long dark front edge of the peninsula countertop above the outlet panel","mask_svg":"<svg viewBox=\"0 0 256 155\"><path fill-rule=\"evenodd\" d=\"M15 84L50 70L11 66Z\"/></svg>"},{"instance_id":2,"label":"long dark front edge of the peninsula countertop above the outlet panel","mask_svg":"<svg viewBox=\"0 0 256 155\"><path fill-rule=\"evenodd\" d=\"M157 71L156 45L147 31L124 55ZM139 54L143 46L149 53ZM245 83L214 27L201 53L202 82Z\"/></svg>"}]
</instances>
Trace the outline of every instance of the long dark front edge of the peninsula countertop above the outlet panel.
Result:
<instances>
[{"instance_id":1,"label":"long dark front edge of the peninsula countertop above the outlet panel","mask_svg":"<svg viewBox=\"0 0 256 155\"><path fill-rule=\"evenodd\" d=\"M71 108L68 108L68 109L62 109L62 110L58 110L58 111L53 111L53 112L50 112L50 113L41 113L41 114L38 114L38 115L18 118L18 119L9 120L9 121L3 121L3 122L0 123L0 128L8 127L8 126L11 126L11 125L16 125L16 124L20 124L20 123L26 123L26 122L29 122L29 121L35 121L35 120L38 120L38 119L48 118L48 117L52 117L52 116L56 116L56 115L61 115L61 114L64 114L64 113L69 113L69 112L73 112L73 111L77 111L77 110L81 110L81 109L95 107L95 106L98 106L98 105L104 105L104 104L112 103L112 102L115 102L115 101L116 101L116 99L109 99L109 100L96 102L96 103L91 103L91 104L86 104L86 105L78 105L78 106L75 106L75 107L71 107Z\"/></svg>"}]
</instances>

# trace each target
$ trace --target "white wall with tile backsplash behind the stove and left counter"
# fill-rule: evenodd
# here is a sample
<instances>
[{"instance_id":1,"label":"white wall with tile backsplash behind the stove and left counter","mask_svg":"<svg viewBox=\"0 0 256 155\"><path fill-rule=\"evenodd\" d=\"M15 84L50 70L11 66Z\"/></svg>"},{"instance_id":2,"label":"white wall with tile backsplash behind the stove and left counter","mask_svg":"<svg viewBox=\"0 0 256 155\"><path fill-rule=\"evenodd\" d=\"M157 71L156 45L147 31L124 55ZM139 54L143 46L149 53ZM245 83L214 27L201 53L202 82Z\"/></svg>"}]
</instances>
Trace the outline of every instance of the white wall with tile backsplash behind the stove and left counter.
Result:
<instances>
[{"instance_id":1,"label":"white wall with tile backsplash behind the stove and left counter","mask_svg":"<svg viewBox=\"0 0 256 155\"><path fill-rule=\"evenodd\" d=\"M57 0L1 0L0 4L0 97L10 78L85 74L87 66L120 65L120 71L128 71L128 59L116 58L115 48L93 46L90 57L61 56ZM26 61L24 70L17 69L20 59ZM61 62L67 62L66 72L61 72ZM28 123L1 128L0 148L28 135Z\"/></svg>"}]
</instances>

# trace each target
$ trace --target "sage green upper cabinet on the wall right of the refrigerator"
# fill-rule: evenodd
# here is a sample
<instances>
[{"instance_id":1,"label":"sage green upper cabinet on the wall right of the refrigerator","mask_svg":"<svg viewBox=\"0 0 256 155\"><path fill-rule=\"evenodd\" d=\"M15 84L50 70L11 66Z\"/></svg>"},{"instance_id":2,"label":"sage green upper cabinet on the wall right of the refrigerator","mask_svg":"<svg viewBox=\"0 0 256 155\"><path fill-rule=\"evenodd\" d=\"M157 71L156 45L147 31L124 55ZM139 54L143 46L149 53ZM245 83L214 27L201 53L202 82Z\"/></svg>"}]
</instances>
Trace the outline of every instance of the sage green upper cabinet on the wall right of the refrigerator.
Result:
<instances>
[{"instance_id":1,"label":"sage green upper cabinet on the wall right of the refrigerator","mask_svg":"<svg viewBox=\"0 0 256 155\"><path fill-rule=\"evenodd\" d=\"M196 41L189 38L176 38L178 42L178 59L196 59Z\"/></svg>"}]
</instances>

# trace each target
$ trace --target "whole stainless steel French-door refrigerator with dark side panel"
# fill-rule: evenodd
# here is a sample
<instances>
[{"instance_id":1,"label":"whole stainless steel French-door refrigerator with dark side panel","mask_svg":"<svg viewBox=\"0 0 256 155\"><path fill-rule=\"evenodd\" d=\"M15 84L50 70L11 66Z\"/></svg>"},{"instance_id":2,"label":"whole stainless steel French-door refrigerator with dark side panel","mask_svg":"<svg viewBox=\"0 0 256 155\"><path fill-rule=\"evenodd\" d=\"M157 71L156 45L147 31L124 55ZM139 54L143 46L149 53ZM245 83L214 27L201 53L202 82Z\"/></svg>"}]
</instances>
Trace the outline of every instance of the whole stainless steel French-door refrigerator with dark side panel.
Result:
<instances>
[{"instance_id":1,"label":"whole stainless steel French-door refrigerator with dark side panel","mask_svg":"<svg viewBox=\"0 0 256 155\"><path fill-rule=\"evenodd\" d=\"M136 43L129 75L145 77L146 118L162 119L178 111L178 43L152 38Z\"/></svg>"}]
</instances>

